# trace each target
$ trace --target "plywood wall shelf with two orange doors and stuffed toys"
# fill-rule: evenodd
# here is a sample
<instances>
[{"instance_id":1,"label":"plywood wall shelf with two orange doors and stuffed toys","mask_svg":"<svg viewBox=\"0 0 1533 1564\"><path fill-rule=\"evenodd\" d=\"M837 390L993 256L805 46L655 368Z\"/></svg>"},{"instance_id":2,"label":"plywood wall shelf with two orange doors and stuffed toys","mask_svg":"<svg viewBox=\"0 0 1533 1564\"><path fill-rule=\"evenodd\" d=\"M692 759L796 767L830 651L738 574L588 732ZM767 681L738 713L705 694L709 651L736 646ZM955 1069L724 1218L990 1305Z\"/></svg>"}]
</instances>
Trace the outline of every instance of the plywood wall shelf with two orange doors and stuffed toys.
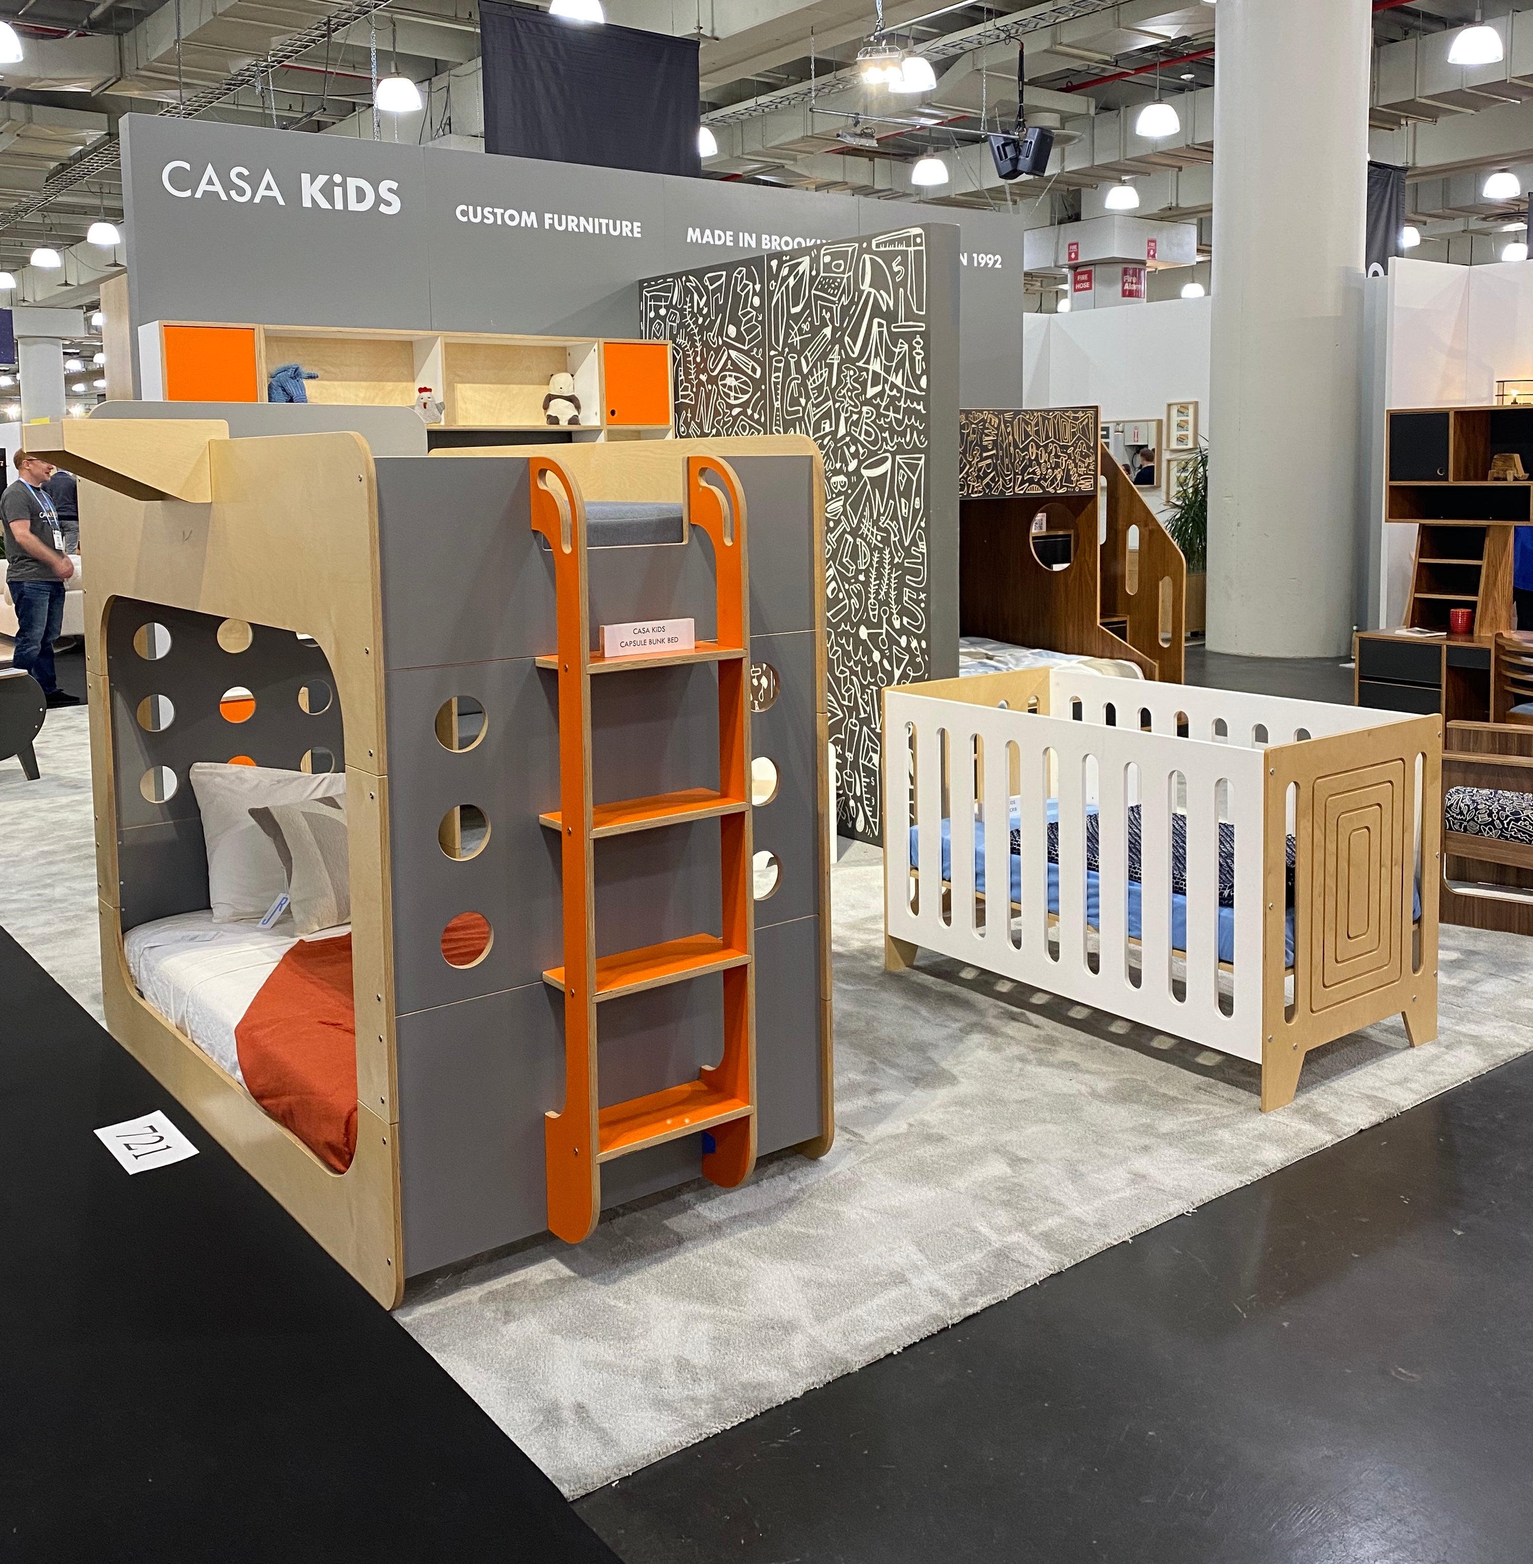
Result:
<instances>
[{"instance_id":1,"label":"plywood wall shelf with two orange doors and stuffed toys","mask_svg":"<svg viewBox=\"0 0 1533 1564\"><path fill-rule=\"evenodd\" d=\"M420 386L442 402L433 429L547 435L549 377L569 374L580 424L569 441L670 433L670 344L594 336L150 321L139 327L145 402L264 402L278 364L317 371L303 383L328 407L413 407Z\"/></svg>"}]
</instances>

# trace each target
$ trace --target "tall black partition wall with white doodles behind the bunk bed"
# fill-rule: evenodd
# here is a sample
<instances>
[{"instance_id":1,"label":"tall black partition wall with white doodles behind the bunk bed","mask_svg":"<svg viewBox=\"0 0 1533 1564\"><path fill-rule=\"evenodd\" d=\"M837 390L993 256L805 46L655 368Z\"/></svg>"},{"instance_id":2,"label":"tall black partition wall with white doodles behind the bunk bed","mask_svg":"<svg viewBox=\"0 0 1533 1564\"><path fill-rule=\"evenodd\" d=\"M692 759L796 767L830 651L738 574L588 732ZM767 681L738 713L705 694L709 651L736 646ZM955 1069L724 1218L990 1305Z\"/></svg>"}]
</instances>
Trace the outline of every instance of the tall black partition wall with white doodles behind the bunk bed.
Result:
<instances>
[{"instance_id":1,"label":"tall black partition wall with white doodles behind the bunk bed","mask_svg":"<svg viewBox=\"0 0 1533 1564\"><path fill-rule=\"evenodd\" d=\"M927 235L656 278L642 316L647 338L674 344L678 436L820 447L838 826L878 840L878 691L931 676Z\"/></svg>"}]
</instances>

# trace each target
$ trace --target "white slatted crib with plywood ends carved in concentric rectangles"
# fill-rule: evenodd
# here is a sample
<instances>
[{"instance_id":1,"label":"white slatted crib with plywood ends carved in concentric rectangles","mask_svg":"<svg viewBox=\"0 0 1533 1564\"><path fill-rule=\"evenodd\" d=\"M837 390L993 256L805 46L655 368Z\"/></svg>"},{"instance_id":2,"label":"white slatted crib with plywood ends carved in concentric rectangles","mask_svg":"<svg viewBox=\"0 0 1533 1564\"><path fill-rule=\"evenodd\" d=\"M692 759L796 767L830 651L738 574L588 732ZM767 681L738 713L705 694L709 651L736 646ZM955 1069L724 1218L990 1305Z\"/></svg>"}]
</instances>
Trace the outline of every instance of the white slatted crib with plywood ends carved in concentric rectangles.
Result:
<instances>
[{"instance_id":1,"label":"white slatted crib with plywood ends carved in concentric rectangles","mask_svg":"<svg viewBox=\"0 0 1533 1564\"><path fill-rule=\"evenodd\" d=\"M1025 669L886 690L883 757L891 971L925 948L1253 1060L1264 1112L1361 1026L1436 1037L1439 718Z\"/></svg>"}]
</instances>

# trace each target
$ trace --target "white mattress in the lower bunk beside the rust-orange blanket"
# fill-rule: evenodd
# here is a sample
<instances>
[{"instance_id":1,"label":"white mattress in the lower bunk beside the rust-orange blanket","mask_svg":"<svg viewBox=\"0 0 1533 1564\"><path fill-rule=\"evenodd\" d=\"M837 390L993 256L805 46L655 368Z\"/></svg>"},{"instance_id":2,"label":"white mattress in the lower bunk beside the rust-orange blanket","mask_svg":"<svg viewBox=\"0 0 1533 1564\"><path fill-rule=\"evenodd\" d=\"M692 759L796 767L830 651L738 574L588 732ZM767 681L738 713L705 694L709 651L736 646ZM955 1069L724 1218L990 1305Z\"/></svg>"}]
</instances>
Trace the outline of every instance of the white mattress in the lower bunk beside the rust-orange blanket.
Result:
<instances>
[{"instance_id":1,"label":"white mattress in the lower bunk beside the rust-orange blanket","mask_svg":"<svg viewBox=\"0 0 1533 1564\"><path fill-rule=\"evenodd\" d=\"M241 1085L234 1028L272 968L298 943L292 921L283 924L288 932L214 923L203 909L141 923L123 938L139 993Z\"/></svg>"}]
</instances>

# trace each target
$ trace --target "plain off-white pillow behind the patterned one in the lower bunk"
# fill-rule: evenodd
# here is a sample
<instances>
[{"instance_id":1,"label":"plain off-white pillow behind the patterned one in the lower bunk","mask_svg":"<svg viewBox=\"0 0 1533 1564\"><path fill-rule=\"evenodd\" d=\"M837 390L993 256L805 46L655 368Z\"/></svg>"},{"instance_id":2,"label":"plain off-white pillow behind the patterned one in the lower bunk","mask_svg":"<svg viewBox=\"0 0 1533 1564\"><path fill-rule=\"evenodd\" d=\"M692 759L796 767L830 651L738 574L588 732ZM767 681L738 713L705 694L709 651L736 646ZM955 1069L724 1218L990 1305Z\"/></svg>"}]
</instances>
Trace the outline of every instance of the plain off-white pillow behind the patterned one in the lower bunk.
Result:
<instances>
[{"instance_id":1,"label":"plain off-white pillow behind the patterned one in the lower bunk","mask_svg":"<svg viewBox=\"0 0 1533 1564\"><path fill-rule=\"evenodd\" d=\"M250 818L252 809L345 798L345 773L309 776L272 766L225 766L198 760L191 768L208 845L208 906L214 923L263 918L288 890L283 860L272 838Z\"/></svg>"}]
</instances>

